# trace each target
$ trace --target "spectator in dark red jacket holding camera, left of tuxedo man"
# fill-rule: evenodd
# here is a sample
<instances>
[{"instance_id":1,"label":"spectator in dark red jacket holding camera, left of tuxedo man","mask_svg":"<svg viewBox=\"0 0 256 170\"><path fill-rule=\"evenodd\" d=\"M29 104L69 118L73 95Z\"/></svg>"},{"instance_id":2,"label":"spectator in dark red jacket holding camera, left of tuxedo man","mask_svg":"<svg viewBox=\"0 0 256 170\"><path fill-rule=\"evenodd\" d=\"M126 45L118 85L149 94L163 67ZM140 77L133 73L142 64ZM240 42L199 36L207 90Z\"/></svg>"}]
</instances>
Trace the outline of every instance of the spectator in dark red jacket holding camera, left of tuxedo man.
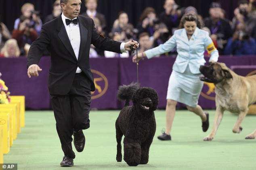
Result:
<instances>
[{"instance_id":1,"label":"spectator in dark red jacket holding camera, left of tuxedo man","mask_svg":"<svg viewBox=\"0 0 256 170\"><path fill-rule=\"evenodd\" d=\"M34 26L31 25L30 18L21 15L18 29L14 29L12 33L12 38L16 39L18 42L21 55L27 56L29 46L37 39L37 37L38 34L34 29Z\"/></svg>"}]
</instances>

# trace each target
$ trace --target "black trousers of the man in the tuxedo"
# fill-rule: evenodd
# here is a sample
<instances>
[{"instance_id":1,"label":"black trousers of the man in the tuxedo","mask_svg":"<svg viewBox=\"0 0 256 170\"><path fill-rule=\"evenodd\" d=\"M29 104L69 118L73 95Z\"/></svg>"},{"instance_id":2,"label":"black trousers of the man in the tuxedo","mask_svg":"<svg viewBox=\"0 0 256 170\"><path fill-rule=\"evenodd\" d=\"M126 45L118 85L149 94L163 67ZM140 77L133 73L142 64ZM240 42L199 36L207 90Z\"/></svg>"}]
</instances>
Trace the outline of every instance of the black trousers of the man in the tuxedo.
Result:
<instances>
[{"instance_id":1,"label":"black trousers of the man in the tuxedo","mask_svg":"<svg viewBox=\"0 0 256 170\"><path fill-rule=\"evenodd\" d=\"M73 159L76 157L72 150L73 131L90 127L90 85L84 73L77 73L67 95L50 95L62 150Z\"/></svg>"}]
</instances>

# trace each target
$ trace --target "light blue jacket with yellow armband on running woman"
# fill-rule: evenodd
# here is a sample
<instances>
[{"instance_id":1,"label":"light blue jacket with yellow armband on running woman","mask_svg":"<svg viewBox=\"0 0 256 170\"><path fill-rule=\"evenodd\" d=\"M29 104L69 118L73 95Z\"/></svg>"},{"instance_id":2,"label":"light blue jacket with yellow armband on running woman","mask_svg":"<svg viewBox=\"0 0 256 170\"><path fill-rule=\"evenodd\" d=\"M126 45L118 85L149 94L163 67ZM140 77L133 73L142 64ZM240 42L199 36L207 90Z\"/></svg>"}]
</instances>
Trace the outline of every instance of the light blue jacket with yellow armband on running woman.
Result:
<instances>
[{"instance_id":1,"label":"light blue jacket with yellow armband on running woman","mask_svg":"<svg viewBox=\"0 0 256 170\"><path fill-rule=\"evenodd\" d=\"M172 69L184 73L185 69L189 65L190 71L193 74L199 74L200 65L204 65L205 50L210 51L210 60L218 61L218 50L214 47L212 39L209 37L209 33L196 27L190 40L187 37L185 28L174 31L174 35L168 39L164 44L161 44L155 48L145 51L147 58L170 52L172 48L177 46L177 58L172 66Z\"/></svg>"}]
</instances>

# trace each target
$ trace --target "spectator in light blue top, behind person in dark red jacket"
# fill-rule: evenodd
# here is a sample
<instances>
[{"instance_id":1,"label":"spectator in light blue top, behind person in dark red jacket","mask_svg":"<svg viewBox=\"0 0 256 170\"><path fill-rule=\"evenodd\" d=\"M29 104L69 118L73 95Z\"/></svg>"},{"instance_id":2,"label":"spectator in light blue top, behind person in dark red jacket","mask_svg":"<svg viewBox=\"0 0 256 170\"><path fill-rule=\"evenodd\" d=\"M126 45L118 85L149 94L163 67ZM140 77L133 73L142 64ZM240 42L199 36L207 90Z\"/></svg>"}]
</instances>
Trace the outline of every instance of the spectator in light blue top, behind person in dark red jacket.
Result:
<instances>
[{"instance_id":1,"label":"spectator in light blue top, behind person in dark red jacket","mask_svg":"<svg viewBox=\"0 0 256 170\"><path fill-rule=\"evenodd\" d=\"M35 11L34 5L31 3L25 3L23 4L23 6L21 6L21 13L23 16L27 17L27 18L32 18L31 25L34 26L36 32L39 34L41 29L42 29L42 20L40 19L39 15L34 14L32 16L32 12L34 13L38 13L38 11ZM20 23L20 18L17 18L14 22L14 29L18 29Z\"/></svg>"}]
</instances>

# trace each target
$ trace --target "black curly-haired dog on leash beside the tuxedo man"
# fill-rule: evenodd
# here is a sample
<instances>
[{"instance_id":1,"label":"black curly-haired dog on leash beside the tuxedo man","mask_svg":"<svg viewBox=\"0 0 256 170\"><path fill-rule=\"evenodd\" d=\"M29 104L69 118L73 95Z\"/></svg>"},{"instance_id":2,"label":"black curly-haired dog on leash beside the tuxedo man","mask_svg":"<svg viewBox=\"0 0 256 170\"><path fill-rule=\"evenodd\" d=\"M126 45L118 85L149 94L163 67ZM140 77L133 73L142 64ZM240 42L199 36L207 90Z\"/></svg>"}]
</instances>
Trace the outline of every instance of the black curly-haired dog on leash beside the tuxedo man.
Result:
<instances>
[{"instance_id":1,"label":"black curly-haired dog on leash beside the tuxedo man","mask_svg":"<svg viewBox=\"0 0 256 170\"><path fill-rule=\"evenodd\" d=\"M125 101L116 122L117 155L122 161L122 136L124 135L124 161L129 166L147 164L149 147L155 135L155 114L158 106L158 94L151 87L138 88L137 83L120 86L118 100ZM129 106L132 99L133 106Z\"/></svg>"}]
</instances>

